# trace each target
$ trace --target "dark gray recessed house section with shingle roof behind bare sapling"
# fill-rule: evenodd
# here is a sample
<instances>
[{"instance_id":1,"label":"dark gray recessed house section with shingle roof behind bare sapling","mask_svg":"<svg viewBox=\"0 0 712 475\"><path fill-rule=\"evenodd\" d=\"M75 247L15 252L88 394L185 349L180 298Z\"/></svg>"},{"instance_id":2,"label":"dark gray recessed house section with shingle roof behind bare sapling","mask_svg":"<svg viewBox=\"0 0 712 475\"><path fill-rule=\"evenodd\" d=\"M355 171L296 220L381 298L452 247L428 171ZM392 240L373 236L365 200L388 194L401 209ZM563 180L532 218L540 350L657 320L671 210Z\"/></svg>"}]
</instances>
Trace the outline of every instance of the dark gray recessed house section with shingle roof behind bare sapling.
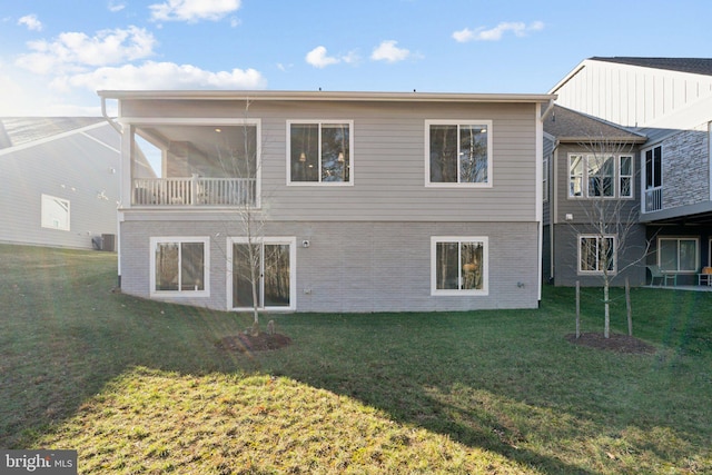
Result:
<instances>
[{"instance_id":1,"label":"dark gray recessed house section with shingle roof behind bare sapling","mask_svg":"<svg viewBox=\"0 0 712 475\"><path fill-rule=\"evenodd\" d=\"M647 138L554 106L544 119L543 278L556 286L645 281L640 147Z\"/></svg>"}]
</instances>

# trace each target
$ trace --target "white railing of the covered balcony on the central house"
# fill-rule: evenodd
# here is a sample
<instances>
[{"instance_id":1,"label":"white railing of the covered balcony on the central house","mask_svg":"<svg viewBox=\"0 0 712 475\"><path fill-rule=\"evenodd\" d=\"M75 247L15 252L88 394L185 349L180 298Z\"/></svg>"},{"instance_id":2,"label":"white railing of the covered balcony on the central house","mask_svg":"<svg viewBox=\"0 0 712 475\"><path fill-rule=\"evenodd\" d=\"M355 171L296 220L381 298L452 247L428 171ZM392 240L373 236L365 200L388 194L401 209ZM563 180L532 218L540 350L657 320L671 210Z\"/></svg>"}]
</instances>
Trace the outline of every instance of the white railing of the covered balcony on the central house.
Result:
<instances>
[{"instance_id":1,"label":"white railing of the covered balcony on the central house","mask_svg":"<svg viewBox=\"0 0 712 475\"><path fill-rule=\"evenodd\" d=\"M135 206L255 206L254 178L136 178Z\"/></svg>"}]
</instances>

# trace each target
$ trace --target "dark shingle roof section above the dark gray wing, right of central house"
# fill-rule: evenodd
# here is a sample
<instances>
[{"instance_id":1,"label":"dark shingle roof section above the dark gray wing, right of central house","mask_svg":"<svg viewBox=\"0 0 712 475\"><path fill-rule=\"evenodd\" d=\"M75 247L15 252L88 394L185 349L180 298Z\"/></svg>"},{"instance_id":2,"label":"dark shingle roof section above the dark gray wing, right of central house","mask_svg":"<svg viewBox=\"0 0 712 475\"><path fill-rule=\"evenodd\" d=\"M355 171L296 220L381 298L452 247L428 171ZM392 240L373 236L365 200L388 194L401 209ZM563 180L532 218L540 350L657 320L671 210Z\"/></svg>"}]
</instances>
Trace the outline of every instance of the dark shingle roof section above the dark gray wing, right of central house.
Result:
<instances>
[{"instance_id":1,"label":"dark shingle roof section above the dark gray wing, right of central house","mask_svg":"<svg viewBox=\"0 0 712 475\"><path fill-rule=\"evenodd\" d=\"M622 140L644 142L645 136L605 120L554 106L544 119L544 131L564 141Z\"/></svg>"}]
</instances>

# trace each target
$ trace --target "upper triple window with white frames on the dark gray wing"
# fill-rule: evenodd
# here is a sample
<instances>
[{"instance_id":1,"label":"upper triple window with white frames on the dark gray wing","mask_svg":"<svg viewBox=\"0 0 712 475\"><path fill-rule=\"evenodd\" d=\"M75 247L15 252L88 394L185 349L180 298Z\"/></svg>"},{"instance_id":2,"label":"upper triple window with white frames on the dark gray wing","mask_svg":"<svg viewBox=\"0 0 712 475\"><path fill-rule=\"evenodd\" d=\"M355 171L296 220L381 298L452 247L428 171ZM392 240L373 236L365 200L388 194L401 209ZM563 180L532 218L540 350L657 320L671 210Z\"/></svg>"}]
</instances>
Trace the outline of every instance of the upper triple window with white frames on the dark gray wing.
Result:
<instances>
[{"instance_id":1,"label":"upper triple window with white frames on the dark gray wing","mask_svg":"<svg viewBox=\"0 0 712 475\"><path fill-rule=\"evenodd\" d=\"M632 155L570 155L568 197L632 198Z\"/></svg>"}]
</instances>

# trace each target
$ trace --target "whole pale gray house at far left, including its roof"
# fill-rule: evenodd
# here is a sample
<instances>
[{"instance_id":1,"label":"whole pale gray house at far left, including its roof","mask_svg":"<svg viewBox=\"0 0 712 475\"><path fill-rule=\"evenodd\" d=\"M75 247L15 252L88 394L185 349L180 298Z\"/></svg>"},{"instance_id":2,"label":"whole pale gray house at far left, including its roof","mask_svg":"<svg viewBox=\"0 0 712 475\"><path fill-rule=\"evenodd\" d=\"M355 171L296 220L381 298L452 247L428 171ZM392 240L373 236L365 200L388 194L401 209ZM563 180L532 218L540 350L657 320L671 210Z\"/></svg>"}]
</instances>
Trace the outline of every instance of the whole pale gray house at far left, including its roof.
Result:
<instances>
[{"instance_id":1,"label":"whole pale gray house at far left, including its roof","mask_svg":"<svg viewBox=\"0 0 712 475\"><path fill-rule=\"evenodd\" d=\"M101 117L0 118L0 243L108 249L120 137Z\"/></svg>"}]
</instances>

